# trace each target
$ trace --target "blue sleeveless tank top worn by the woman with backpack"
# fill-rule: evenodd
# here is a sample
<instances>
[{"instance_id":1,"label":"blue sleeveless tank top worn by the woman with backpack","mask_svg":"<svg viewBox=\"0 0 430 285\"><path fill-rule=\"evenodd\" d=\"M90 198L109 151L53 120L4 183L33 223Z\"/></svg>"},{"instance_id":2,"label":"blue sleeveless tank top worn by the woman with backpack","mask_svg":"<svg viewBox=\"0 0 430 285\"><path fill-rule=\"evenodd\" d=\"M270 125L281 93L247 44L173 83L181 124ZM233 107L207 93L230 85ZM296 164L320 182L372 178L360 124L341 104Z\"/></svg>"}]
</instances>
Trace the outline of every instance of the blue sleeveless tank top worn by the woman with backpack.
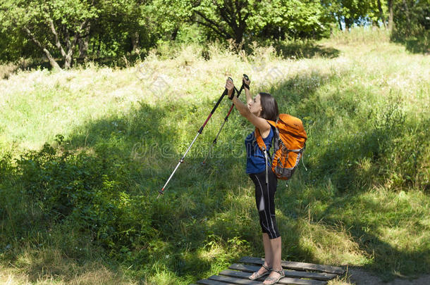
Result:
<instances>
[{"instance_id":1,"label":"blue sleeveless tank top worn by the woman with backpack","mask_svg":"<svg viewBox=\"0 0 430 285\"><path fill-rule=\"evenodd\" d=\"M270 128L269 135L263 139L264 144L266 144L267 156L269 160L267 161L268 167L271 167L269 163L271 163L271 158L269 154L269 149L271 148L271 141L274 137L273 127ZM257 139L255 138L254 132L248 134L245 139L245 148L246 148L246 173L259 173L266 170L264 166L266 160L264 159L263 151L258 147Z\"/></svg>"}]
</instances>

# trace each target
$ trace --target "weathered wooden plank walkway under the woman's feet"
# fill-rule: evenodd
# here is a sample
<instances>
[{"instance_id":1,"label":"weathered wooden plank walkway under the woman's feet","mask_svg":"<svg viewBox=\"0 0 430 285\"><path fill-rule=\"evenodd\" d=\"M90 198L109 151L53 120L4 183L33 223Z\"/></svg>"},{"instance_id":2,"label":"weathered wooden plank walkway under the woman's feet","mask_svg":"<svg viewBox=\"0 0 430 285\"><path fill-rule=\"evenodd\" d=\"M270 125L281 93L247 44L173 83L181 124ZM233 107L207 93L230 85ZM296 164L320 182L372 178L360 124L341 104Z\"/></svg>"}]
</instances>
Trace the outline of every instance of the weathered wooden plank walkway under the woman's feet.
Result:
<instances>
[{"instance_id":1,"label":"weathered wooden plank walkway under the woman's feet","mask_svg":"<svg viewBox=\"0 0 430 285\"><path fill-rule=\"evenodd\" d=\"M234 263L228 270L219 272L219 275L213 275L208 279L197 281L197 284L203 285L260 285L267 277L258 281L248 279L252 272L259 270L264 263L263 258L240 258L238 263ZM277 284L297 284L297 285L324 285L328 280L334 279L345 273L342 267L330 265L318 265L305 262L282 261L283 272L285 277L278 281ZM196 285L196 284L192 284Z\"/></svg>"}]
</instances>

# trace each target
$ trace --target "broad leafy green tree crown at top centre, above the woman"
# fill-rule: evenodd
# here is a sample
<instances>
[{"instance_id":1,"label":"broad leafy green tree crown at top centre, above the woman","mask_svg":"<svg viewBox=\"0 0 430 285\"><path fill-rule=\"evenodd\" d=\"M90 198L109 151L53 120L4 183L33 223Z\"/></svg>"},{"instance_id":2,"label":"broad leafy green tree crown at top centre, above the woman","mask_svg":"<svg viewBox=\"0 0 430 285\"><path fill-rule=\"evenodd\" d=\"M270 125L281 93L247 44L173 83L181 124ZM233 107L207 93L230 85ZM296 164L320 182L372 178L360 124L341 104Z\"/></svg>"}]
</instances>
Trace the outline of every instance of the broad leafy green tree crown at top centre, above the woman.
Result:
<instances>
[{"instance_id":1,"label":"broad leafy green tree crown at top centre, above the woman","mask_svg":"<svg viewBox=\"0 0 430 285\"><path fill-rule=\"evenodd\" d=\"M325 8L315 0L159 0L159 13L178 26L197 23L208 39L321 37L328 30Z\"/></svg>"}]
</instances>

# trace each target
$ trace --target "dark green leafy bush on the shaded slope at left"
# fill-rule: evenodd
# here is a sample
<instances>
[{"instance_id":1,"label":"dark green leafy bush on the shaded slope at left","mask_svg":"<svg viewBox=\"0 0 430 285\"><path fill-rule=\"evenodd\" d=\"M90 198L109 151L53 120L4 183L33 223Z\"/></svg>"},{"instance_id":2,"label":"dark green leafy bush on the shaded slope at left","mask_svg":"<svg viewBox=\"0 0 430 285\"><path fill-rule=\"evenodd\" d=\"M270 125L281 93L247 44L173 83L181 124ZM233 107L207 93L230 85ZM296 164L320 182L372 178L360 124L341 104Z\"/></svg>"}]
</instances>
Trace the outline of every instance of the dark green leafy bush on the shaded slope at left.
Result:
<instances>
[{"instance_id":1,"label":"dark green leafy bush on the shaded slope at left","mask_svg":"<svg viewBox=\"0 0 430 285\"><path fill-rule=\"evenodd\" d=\"M63 137L58 138L61 144ZM45 144L40 151L23 153L13 173L7 158L0 167L23 189L27 201L41 209L44 220L33 224L74 224L106 248L119 250L152 234L151 215L142 196L130 196L130 162L101 155Z\"/></svg>"}]
</instances>

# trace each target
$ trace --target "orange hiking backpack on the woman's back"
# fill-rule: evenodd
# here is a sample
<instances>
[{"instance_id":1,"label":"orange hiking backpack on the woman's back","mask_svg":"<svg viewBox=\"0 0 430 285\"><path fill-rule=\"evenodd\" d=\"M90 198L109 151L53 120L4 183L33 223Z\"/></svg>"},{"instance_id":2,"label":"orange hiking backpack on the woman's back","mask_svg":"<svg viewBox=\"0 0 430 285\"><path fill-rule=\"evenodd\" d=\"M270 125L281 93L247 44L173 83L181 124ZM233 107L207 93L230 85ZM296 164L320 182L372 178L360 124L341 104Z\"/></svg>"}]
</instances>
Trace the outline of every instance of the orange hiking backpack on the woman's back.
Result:
<instances>
[{"instance_id":1,"label":"orange hiking backpack on the woman's back","mask_svg":"<svg viewBox=\"0 0 430 285\"><path fill-rule=\"evenodd\" d=\"M280 114L278 121L267 120L275 127L274 134L274 157L272 158L271 169L278 179L288 180L293 176L300 158L305 151L307 134L303 127L302 120L292 115ZM262 135L259 129L255 128L255 136L259 148L264 152L266 158L266 183L267 174L267 152Z\"/></svg>"}]
</instances>

